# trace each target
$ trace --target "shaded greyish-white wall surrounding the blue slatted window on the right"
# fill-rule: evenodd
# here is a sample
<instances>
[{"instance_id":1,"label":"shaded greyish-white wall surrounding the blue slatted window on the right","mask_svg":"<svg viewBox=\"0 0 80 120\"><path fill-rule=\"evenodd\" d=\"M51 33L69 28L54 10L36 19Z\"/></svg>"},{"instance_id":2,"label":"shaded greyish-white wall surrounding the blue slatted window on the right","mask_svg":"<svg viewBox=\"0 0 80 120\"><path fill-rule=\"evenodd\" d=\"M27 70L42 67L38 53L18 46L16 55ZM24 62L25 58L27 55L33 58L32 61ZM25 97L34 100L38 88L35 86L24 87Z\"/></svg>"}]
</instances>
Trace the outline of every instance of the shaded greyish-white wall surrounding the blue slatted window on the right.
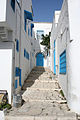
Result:
<instances>
[{"instance_id":1,"label":"shaded greyish-white wall surrounding the blue slatted window on the right","mask_svg":"<svg viewBox=\"0 0 80 120\"><path fill-rule=\"evenodd\" d=\"M55 14L56 15L56 14ZM56 18L56 16L55 16ZM61 53L66 50L67 53L67 44L69 41L69 18L68 18L68 5L67 5L67 1L64 0L62 9L61 9L61 13L60 15L58 15L57 19L57 26L55 27L55 21L53 23L53 29L52 29L52 40L53 40L53 46L54 46L54 40L56 42L56 46L55 46L55 53L56 53L56 74L58 75L58 80L59 83L64 91L64 94L66 96L66 98L68 97L68 80L67 80L67 72L66 74L60 74L59 71L59 67L60 67L60 63L59 63L59 58ZM68 29L67 29L68 28ZM53 48L53 47L52 47ZM53 48L54 50L54 48ZM53 53L52 53L52 57ZM54 59L53 59L53 63L52 63L52 69L54 69ZM53 70L54 72L54 70ZM68 99L68 98L67 98Z\"/></svg>"}]
</instances>

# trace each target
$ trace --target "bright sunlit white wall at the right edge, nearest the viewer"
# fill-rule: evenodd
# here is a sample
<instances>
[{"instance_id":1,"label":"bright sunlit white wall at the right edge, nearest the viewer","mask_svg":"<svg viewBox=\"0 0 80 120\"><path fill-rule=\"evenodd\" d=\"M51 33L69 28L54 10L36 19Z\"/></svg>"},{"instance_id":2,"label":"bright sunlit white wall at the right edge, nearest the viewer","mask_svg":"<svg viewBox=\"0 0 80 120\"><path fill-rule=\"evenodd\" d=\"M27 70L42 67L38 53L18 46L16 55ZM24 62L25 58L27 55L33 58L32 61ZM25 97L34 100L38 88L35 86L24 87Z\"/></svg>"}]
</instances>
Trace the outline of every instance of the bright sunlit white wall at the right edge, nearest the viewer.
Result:
<instances>
[{"instance_id":1,"label":"bright sunlit white wall at the right edge, nearest the viewer","mask_svg":"<svg viewBox=\"0 0 80 120\"><path fill-rule=\"evenodd\" d=\"M80 0L68 0L68 11L68 104L73 111L80 114Z\"/></svg>"}]
</instances>

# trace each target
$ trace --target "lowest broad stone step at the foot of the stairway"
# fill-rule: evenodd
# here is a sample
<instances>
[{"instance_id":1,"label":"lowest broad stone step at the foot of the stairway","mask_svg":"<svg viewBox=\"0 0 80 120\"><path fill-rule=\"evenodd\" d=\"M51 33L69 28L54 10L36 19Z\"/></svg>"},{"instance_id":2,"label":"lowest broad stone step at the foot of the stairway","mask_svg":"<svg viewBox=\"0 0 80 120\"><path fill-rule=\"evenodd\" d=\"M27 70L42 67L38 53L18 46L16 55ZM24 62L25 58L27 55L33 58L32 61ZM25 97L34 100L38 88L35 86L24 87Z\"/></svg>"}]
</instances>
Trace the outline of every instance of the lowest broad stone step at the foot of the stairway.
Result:
<instances>
[{"instance_id":1,"label":"lowest broad stone step at the foot of the stairway","mask_svg":"<svg viewBox=\"0 0 80 120\"><path fill-rule=\"evenodd\" d=\"M51 102L39 102L31 101L25 103L19 109L12 109L9 113L11 116L37 116L37 117L50 117L57 116L60 112L61 115L64 115L68 111L67 104L51 103ZM70 114L70 112L68 113Z\"/></svg>"}]
</instances>

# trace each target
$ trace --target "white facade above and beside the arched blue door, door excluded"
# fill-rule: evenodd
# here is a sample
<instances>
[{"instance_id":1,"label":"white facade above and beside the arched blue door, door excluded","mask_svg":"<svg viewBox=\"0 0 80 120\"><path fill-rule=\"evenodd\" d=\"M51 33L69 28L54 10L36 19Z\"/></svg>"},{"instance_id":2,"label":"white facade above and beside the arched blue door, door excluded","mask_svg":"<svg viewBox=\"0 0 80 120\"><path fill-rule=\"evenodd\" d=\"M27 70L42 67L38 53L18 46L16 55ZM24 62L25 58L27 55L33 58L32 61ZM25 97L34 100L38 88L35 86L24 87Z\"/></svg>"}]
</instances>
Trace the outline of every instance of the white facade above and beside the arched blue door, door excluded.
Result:
<instances>
[{"instance_id":1,"label":"white facade above and beside the arched blue door, door excluded","mask_svg":"<svg viewBox=\"0 0 80 120\"><path fill-rule=\"evenodd\" d=\"M34 22L34 31L35 31L35 38L37 45L35 46L36 54L41 52L44 54L44 67L49 67L49 57L47 57L47 54L45 53L45 46L41 45L40 42L42 42L41 35L48 34L51 32L52 23L46 23L46 22Z\"/></svg>"}]
</instances>

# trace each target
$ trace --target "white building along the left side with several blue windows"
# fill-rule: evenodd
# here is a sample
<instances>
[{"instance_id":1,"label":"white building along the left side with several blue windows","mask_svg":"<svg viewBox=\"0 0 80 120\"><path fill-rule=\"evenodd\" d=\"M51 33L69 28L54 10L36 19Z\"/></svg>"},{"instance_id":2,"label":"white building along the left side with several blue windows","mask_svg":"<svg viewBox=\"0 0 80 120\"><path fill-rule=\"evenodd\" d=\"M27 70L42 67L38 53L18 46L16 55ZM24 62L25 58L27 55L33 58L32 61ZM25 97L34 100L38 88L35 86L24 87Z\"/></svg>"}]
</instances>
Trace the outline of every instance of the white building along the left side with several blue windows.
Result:
<instances>
[{"instance_id":1,"label":"white building along the left side with several blue windows","mask_svg":"<svg viewBox=\"0 0 80 120\"><path fill-rule=\"evenodd\" d=\"M32 0L0 0L0 90L9 103L35 66Z\"/></svg>"}]
</instances>

